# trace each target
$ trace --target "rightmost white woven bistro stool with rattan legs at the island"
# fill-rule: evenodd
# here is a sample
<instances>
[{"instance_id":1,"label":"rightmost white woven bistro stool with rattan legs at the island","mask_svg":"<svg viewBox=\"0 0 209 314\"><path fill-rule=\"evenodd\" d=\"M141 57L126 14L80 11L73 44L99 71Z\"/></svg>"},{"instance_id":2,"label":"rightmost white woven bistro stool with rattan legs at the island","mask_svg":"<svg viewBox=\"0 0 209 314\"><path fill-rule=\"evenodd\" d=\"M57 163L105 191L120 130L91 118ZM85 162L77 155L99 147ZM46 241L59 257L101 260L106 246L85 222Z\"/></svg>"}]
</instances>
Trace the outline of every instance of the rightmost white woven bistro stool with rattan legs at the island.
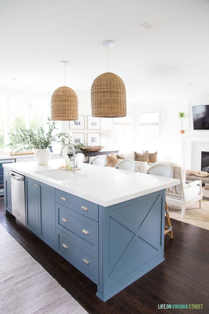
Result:
<instances>
[{"instance_id":1,"label":"rightmost white woven bistro stool with rattan legs at the island","mask_svg":"<svg viewBox=\"0 0 209 314\"><path fill-rule=\"evenodd\" d=\"M153 176L163 176L166 178L173 177L173 171L171 167L166 164L154 164L147 169L146 173ZM165 196L167 192L168 192L168 188L165 189ZM171 237L171 239L173 239L173 231L172 231L172 226L170 222L170 216L169 216L169 211L168 211L166 200L165 200L165 214L166 214L168 226L165 226L164 235L168 234Z\"/></svg>"}]
</instances>

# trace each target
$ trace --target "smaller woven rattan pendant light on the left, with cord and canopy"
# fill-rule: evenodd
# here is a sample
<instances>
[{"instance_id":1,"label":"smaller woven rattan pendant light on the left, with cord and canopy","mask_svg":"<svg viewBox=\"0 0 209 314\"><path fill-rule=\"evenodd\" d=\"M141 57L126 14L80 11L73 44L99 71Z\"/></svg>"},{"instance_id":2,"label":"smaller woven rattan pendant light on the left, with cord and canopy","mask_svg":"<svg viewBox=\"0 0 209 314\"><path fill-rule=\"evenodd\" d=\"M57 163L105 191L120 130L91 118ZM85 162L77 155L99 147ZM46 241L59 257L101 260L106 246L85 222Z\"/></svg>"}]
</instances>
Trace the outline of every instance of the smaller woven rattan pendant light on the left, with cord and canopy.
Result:
<instances>
[{"instance_id":1,"label":"smaller woven rattan pendant light on the left, with cord and canopy","mask_svg":"<svg viewBox=\"0 0 209 314\"><path fill-rule=\"evenodd\" d=\"M64 65L64 86L55 89L51 96L51 120L78 119L78 97L73 89L65 86L65 65L67 64L67 61L60 62L60 65Z\"/></svg>"}]
</instances>

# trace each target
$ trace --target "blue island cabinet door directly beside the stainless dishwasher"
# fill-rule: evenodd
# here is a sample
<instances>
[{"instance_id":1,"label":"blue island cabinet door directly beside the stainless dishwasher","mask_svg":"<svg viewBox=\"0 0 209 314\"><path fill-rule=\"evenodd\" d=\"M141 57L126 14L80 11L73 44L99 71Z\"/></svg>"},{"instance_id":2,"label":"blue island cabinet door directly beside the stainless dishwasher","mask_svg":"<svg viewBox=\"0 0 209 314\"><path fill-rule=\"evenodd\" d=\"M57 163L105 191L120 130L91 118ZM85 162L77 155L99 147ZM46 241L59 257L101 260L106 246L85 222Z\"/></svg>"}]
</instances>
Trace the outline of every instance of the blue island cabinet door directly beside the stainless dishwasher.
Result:
<instances>
[{"instance_id":1,"label":"blue island cabinet door directly beside the stainless dishwasher","mask_svg":"<svg viewBox=\"0 0 209 314\"><path fill-rule=\"evenodd\" d=\"M39 236L39 187L38 182L25 177L26 227Z\"/></svg>"}]
</instances>

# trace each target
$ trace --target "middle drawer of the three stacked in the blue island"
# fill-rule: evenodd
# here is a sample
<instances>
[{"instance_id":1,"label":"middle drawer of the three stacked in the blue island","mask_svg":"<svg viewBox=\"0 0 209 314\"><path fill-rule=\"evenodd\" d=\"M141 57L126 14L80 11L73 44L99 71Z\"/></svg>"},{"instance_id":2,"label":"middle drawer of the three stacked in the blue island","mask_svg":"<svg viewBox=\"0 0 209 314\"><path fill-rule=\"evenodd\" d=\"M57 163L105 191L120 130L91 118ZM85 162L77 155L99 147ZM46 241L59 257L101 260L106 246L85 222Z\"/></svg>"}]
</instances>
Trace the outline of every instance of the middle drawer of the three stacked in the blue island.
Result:
<instances>
[{"instance_id":1,"label":"middle drawer of the three stacked in the blue island","mask_svg":"<svg viewBox=\"0 0 209 314\"><path fill-rule=\"evenodd\" d=\"M56 227L98 254L98 222L56 203Z\"/></svg>"}]
</instances>

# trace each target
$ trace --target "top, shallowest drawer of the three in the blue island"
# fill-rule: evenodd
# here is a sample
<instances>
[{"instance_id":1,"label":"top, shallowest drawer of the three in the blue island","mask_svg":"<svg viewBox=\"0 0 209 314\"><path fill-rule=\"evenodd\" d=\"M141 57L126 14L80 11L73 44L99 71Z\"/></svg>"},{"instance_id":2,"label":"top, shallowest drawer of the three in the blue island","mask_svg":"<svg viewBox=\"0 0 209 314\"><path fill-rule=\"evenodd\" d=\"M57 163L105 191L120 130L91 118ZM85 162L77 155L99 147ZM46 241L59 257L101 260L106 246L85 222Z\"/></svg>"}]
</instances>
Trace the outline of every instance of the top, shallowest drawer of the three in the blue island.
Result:
<instances>
[{"instance_id":1,"label":"top, shallowest drawer of the three in the blue island","mask_svg":"<svg viewBox=\"0 0 209 314\"><path fill-rule=\"evenodd\" d=\"M77 213L98 221L99 205L67 192L55 189L55 201Z\"/></svg>"}]
</instances>

